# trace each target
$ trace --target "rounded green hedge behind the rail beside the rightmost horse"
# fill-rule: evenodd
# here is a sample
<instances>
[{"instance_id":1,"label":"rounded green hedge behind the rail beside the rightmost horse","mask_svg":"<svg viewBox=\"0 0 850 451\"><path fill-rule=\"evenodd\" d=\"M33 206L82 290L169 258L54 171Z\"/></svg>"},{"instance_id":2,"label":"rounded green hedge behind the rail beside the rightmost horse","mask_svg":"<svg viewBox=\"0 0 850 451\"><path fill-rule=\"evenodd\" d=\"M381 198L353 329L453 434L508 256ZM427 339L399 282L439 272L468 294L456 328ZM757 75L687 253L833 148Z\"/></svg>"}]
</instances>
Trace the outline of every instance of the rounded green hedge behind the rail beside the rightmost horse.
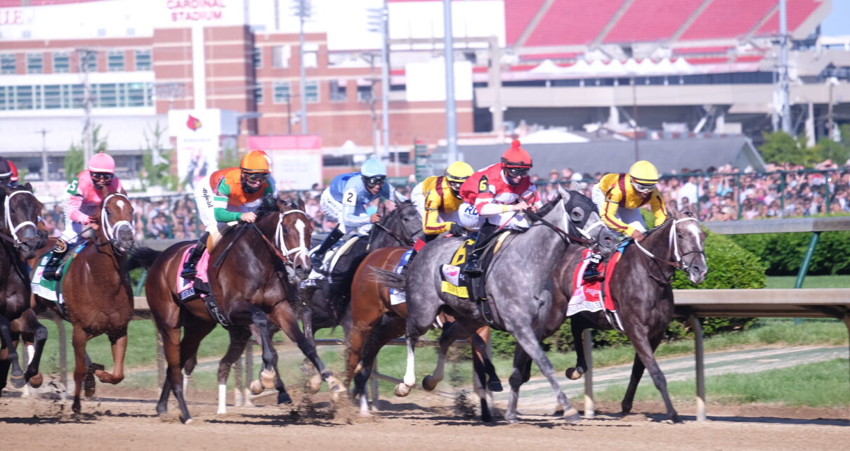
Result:
<instances>
[{"instance_id":1,"label":"rounded green hedge behind the rail beside the rightmost horse","mask_svg":"<svg viewBox=\"0 0 850 451\"><path fill-rule=\"evenodd\" d=\"M706 232L706 259L708 274L706 274L706 280L702 284L692 284L685 273L677 271L672 281L673 288L680 290L693 288L763 288L767 281L764 264L750 251L746 251L723 235ZM721 332L744 330L755 321L755 319L741 318L707 318L703 320L703 333L706 336L711 336ZM667 328L667 338L677 340L684 338L689 332L690 327L687 322L673 319ZM500 331L494 331L490 336L493 342L493 352L496 355L503 357L513 355L513 347L516 344L513 336ZM593 344L597 347L620 346L628 344L628 342L625 334L615 330L600 330L593 334ZM544 340L543 345L547 350L554 349L559 352L573 350L570 319L564 321L564 324L553 336Z\"/></svg>"}]
</instances>

